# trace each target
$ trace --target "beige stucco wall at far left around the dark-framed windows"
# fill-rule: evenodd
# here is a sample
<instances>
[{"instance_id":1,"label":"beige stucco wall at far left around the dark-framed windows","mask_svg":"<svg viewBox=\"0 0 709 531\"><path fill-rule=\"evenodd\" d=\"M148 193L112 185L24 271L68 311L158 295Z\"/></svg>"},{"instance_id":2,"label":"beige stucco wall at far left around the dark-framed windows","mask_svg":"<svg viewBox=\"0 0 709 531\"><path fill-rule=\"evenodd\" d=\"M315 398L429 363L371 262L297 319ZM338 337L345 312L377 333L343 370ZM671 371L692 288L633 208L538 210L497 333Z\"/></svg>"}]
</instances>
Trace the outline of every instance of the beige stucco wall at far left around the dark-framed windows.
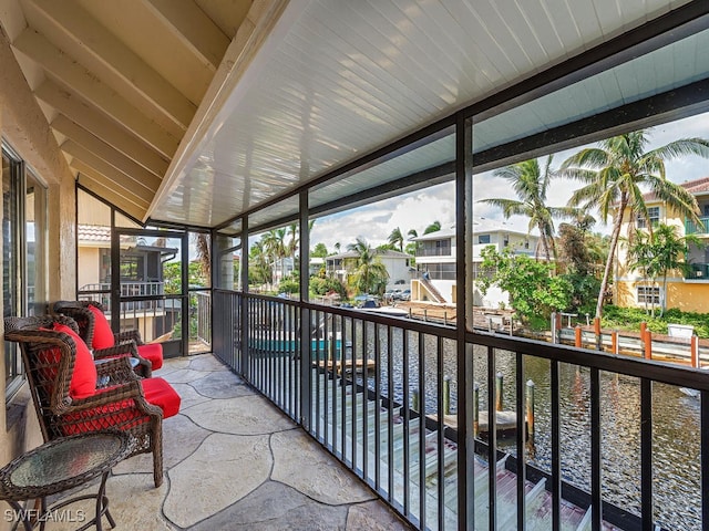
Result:
<instances>
[{"instance_id":1,"label":"beige stucco wall at far left around the dark-framed windows","mask_svg":"<svg viewBox=\"0 0 709 531\"><path fill-rule=\"evenodd\" d=\"M31 94L0 29L0 136L48 186L49 199L49 301L73 298L75 293L74 179L59 150L47 118ZM0 208L1 205L0 205ZM0 241L0 244L2 242ZM49 302L48 301L48 302ZM1 302L0 302L1 304ZM0 330L2 324L0 323ZM0 350L3 348L0 342ZM4 352L0 353L4 360ZM0 364L4 376L4 364ZM23 388L0 408L0 465L41 442L29 393ZM0 529L8 522L0 521Z\"/></svg>"}]
</instances>

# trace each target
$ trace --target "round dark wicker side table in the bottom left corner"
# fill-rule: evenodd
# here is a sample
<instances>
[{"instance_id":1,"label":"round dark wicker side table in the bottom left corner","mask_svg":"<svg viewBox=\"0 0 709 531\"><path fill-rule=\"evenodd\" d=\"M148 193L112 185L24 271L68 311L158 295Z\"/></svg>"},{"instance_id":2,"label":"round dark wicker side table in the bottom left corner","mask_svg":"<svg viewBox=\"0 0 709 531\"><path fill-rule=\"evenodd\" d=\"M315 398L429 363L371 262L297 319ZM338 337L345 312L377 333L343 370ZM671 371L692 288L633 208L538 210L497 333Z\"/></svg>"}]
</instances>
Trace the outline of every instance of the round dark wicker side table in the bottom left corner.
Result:
<instances>
[{"instance_id":1,"label":"round dark wicker side table in the bottom left corner","mask_svg":"<svg viewBox=\"0 0 709 531\"><path fill-rule=\"evenodd\" d=\"M79 521L59 509L80 500L95 499L96 513L93 520L84 523L78 531L95 525L101 530L103 514L112 528L115 521L109 512L109 498L105 486L109 473L115 464L129 456L134 439L121 431L94 431L51 440L23 454L0 470L0 500L6 500L14 510L14 519L21 520L25 530L38 523L44 529L48 521ZM101 486L96 494L79 496L60 500L47 507L45 498L79 487L101 476ZM41 500L41 509L22 509L20 501Z\"/></svg>"}]
</instances>

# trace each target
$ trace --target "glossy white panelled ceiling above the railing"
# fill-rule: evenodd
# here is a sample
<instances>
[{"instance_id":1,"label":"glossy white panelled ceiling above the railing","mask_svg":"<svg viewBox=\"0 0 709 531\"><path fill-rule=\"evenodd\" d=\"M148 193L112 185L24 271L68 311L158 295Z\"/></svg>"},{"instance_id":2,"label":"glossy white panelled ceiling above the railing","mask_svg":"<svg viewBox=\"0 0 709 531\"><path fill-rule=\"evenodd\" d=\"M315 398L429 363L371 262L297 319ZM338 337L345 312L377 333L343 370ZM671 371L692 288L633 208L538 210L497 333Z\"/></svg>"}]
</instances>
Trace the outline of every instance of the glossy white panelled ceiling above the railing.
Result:
<instances>
[{"instance_id":1,"label":"glossy white panelled ceiling above the railing","mask_svg":"<svg viewBox=\"0 0 709 531\"><path fill-rule=\"evenodd\" d=\"M150 214L219 225L680 3L291 1L248 85L234 84L208 133L183 142ZM600 75L578 84L571 101L484 122L475 149L640 97L666 77L646 70L626 86ZM403 167L332 184L314 191L311 204L399 177Z\"/></svg>"}]
</instances>

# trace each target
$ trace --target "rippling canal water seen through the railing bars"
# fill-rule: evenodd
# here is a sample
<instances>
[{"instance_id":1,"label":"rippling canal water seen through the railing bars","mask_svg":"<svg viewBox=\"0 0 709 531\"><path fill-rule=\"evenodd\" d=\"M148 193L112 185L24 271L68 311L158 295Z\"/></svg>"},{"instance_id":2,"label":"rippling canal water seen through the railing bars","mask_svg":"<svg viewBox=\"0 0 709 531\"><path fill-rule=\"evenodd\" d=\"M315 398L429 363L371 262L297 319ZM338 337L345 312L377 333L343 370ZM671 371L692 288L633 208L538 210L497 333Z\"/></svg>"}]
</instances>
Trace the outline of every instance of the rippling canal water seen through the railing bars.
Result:
<instances>
[{"instance_id":1,"label":"rippling canal water seen through the railing bars","mask_svg":"<svg viewBox=\"0 0 709 531\"><path fill-rule=\"evenodd\" d=\"M358 334L359 335L359 334ZM367 351L372 353L373 334L368 334ZM361 340L360 340L360 345ZM424 374L425 410L438 412L439 343L433 336L423 336L424 367L420 371L419 334L409 334L404 353L401 331L392 335L392 376L394 399L404 400L403 366L409 366L410 402L419 387L419 374ZM387 394L387 343L380 339L382 353L382 393ZM443 373L451 377L451 408L458 402L456 354L452 341L442 342ZM487 407L487 350L475 347L474 372L480 383L480 408ZM370 355L371 357L371 355ZM504 409L515 408L515 361L511 353L497 351L496 371L504 378ZM524 381L535 385L535 439L528 447L528 461L551 471L551 394L549 363L527 356ZM588 369L562 364L562 475L574 486L590 490L590 384ZM374 388L373 377L368 381ZM493 393L494 396L494 393ZM602 373L602 447L603 497L618 507L640 513L640 386L637 378ZM494 398L493 398L494 399ZM699 399L682 394L679 388L655 384L653 387L653 471L655 523L668 530L693 530L701 527L701 487L699 448ZM499 440L501 449L516 454L515 440Z\"/></svg>"}]
</instances>

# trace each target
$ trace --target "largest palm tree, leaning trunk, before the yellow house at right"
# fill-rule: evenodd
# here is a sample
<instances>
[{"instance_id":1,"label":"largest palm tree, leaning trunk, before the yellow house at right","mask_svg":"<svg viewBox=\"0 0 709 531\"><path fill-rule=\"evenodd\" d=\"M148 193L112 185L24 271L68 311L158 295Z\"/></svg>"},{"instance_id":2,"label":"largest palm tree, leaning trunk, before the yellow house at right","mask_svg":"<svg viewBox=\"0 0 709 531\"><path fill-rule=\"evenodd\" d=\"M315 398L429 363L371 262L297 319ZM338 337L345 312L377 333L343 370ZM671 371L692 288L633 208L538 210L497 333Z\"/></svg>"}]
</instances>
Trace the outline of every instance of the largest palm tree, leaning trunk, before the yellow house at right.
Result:
<instances>
[{"instance_id":1,"label":"largest palm tree, leaning trunk, before the yellow house at right","mask_svg":"<svg viewBox=\"0 0 709 531\"><path fill-rule=\"evenodd\" d=\"M709 140L682 138L648 152L648 129L640 129L603 140L598 147L582 149L567 158L559 171L559 175L585 185L574 191L571 206L582 206L587 210L597 208L603 219L608 219L610 214L614 217L608 259L596 304L597 317L603 315L604 295L626 210L631 222L639 218L650 226L643 187L678 215L699 221L697 200L685 188L667 180L665 160L682 155L709 158Z\"/></svg>"}]
</instances>

